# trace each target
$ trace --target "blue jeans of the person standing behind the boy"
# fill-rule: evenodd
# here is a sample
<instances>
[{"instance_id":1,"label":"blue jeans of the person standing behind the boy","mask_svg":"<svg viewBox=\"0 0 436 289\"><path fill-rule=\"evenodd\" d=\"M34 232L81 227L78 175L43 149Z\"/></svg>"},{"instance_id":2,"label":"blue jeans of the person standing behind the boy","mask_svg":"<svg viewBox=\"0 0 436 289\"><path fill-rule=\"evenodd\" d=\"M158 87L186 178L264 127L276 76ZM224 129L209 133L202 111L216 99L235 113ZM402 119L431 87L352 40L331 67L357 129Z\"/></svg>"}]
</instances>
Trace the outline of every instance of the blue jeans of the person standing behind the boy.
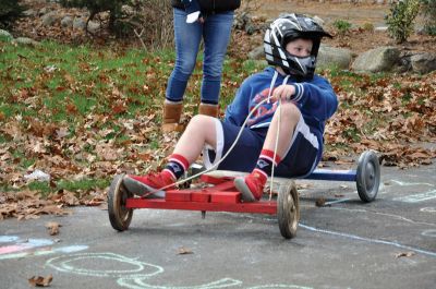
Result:
<instances>
[{"instance_id":1,"label":"blue jeans of the person standing behind the boy","mask_svg":"<svg viewBox=\"0 0 436 289\"><path fill-rule=\"evenodd\" d=\"M199 43L204 40L201 99L218 104L222 64L233 24L233 11L207 15L205 22L186 23L186 12L173 9L175 64L168 80L167 99L183 100L187 81L194 71Z\"/></svg>"}]
</instances>

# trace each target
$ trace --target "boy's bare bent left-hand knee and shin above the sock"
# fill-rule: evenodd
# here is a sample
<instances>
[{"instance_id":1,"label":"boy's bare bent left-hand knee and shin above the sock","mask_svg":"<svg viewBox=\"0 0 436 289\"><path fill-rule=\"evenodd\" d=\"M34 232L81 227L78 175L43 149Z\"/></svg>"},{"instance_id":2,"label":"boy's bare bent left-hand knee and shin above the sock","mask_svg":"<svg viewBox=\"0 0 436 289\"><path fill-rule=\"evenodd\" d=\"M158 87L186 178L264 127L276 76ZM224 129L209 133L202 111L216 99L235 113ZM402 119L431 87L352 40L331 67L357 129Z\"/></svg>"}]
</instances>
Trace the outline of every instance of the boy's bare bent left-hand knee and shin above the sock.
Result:
<instances>
[{"instance_id":1,"label":"boy's bare bent left-hand knee and shin above the sock","mask_svg":"<svg viewBox=\"0 0 436 289\"><path fill-rule=\"evenodd\" d=\"M216 148L217 133L216 119L197 115L193 117L175 145L173 154L182 155L186 160L194 162L203 150L205 144Z\"/></svg>"}]
</instances>

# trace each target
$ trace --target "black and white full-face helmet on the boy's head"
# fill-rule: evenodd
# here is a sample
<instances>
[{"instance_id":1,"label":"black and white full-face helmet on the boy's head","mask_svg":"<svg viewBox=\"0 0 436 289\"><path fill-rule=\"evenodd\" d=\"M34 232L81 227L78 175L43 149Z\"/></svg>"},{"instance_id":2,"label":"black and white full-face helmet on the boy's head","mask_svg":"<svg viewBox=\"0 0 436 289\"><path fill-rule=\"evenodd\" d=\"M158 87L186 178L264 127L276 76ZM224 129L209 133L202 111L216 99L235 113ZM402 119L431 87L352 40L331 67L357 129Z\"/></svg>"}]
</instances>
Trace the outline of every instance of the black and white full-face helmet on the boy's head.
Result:
<instances>
[{"instance_id":1,"label":"black and white full-face helmet on the boy's head","mask_svg":"<svg viewBox=\"0 0 436 289\"><path fill-rule=\"evenodd\" d=\"M294 13L281 14L265 33L264 50L266 60L271 65L282 68L287 74L295 76L298 80L312 80L320 39L325 36L331 37L313 19ZM287 44L296 38L313 40L311 56L292 56L286 50Z\"/></svg>"}]
</instances>

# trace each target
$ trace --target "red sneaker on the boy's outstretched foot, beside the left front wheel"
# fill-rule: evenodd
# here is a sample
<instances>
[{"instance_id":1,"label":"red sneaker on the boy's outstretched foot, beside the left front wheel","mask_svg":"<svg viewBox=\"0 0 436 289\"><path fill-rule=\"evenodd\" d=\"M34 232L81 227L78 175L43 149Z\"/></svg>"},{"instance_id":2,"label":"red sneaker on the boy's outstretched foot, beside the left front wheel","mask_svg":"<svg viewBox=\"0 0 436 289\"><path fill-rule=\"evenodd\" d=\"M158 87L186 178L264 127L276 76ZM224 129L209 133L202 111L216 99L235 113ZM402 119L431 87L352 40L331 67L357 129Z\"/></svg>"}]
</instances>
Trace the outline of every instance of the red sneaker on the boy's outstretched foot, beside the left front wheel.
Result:
<instances>
[{"instance_id":1,"label":"red sneaker on the boy's outstretched foot, beside the left front wheel","mask_svg":"<svg viewBox=\"0 0 436 289\"><path fill-rule=\"evenodd\" d=\"M145 195L147 193L155 194L157 196L165 196L164 191L173 189L174 180L169 173L148 173L144 177L126 174L123 178L123 184L129 192L136 195ZM165 188L170 185L168 188ZM161 190L165 188L165 190Z\"/></svg>"}]
</instances>

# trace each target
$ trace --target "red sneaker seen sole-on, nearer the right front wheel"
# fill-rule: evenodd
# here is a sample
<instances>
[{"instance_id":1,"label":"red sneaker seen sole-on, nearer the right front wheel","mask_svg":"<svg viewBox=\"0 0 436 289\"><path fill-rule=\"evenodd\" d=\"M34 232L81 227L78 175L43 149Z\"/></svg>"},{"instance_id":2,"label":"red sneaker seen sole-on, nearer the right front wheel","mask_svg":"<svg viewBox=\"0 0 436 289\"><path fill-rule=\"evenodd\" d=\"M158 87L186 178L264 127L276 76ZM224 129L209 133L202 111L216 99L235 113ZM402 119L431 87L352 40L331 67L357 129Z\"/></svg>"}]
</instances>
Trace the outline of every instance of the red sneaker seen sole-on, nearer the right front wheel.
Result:
<instances>
[{"instance_id":1,"label":"red sneaker seen sole-on, nearer the right front wheel","mask_svg":"<svg viewBox=\"0 0 436 289\"><path fill-rule=\"evenodd\" d=\"M234 186L242 194L245 202L254 202L261 200L264 193L266 178L258 172L252 172L246 177L234 179Z\"/></svg>"}]
</instances>

